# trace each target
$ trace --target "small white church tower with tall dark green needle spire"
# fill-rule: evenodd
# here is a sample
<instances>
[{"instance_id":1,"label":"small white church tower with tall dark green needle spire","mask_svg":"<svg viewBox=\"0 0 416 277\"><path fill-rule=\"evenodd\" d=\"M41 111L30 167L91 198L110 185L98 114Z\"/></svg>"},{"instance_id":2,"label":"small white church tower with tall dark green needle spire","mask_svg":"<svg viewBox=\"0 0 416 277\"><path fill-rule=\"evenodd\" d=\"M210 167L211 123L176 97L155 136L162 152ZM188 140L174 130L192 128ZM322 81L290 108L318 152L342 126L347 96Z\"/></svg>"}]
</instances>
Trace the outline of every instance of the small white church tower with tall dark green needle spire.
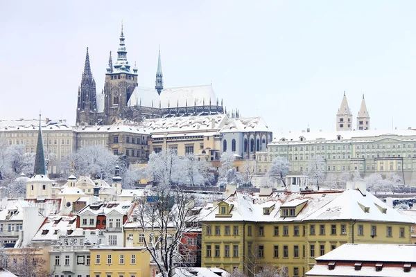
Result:
<instances>
[{"instance_id":1,"label":"small white church tower with tall dark green needle spire","mask_svg":"<svg viewBox=\"0 0 416 277\"><path fill-rule=\"evenodd\" d=\"M42 125L39 115L39 132L37 133L37 145L35 156L35 167L33 177L26 182L26 199L51 198L52 181L46 175L46 163L44 158Z\"/></svg>"}]
</instances>

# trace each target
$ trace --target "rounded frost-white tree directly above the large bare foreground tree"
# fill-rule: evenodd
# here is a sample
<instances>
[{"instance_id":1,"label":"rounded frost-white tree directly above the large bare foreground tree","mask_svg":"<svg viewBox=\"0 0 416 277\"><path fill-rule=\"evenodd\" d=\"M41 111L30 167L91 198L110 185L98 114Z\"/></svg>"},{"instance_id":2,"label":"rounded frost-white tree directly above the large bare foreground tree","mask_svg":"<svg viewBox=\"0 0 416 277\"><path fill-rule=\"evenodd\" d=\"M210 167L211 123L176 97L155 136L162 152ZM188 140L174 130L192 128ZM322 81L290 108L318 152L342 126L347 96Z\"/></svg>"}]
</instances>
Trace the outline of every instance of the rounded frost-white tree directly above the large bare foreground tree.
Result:
<instances>
[{"instance_id":1,"label":"rounded frost-white tree directly above the large bare foreground tree","mask_svg":"<svg viewBox=\"0 0 416 277\"><path fill-rule=\"evenodd\" d=\"M149 155L146 166L149 179L159 186L177 184L184 174L184 163L174 149L164 149L159 153Z\"/></svg>"}]
</instances>

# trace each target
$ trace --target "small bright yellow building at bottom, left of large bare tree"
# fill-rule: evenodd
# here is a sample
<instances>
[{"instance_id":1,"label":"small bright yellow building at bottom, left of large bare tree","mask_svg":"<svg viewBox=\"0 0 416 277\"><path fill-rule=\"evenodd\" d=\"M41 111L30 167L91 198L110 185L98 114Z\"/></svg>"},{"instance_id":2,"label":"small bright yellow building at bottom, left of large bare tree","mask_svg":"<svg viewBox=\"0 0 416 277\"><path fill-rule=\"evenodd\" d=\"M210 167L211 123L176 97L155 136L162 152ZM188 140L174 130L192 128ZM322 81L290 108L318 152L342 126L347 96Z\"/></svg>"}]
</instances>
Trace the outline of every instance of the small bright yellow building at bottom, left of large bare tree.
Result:
<instances>
[{"instance_id":1,"label":"small bright yellow building at bottom, left of large bare tree","mask_svg":"<svg viewBox=\"0 0 416 277\"><path fill-rule=\"evenodd\" d=\"M90 249L89 276L94 277L148 277L150 253L144 248L93 248Z\"/></svg>"}]
</instances>

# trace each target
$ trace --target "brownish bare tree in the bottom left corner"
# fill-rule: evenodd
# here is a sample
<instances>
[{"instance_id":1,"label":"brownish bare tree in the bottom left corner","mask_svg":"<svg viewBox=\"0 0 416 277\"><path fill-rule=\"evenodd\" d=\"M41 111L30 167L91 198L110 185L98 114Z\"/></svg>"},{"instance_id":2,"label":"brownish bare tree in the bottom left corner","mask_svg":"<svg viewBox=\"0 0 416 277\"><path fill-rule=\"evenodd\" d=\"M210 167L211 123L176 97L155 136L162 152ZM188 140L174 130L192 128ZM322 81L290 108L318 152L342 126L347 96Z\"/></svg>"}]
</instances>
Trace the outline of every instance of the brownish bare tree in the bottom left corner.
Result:
<instances>
[{"instance_id":1,"label":"brownish bare tree in the bottom left corner","mask_svg":"<svg viewBox=\"0 0 416 277\"><path fill-rule=\"evenodd\" d=\"M19 277L49 277L52 273L44 269L46 260L36 253L35 248L21 248L8 256L8 271Z\"/></svg>"}]
</instances>

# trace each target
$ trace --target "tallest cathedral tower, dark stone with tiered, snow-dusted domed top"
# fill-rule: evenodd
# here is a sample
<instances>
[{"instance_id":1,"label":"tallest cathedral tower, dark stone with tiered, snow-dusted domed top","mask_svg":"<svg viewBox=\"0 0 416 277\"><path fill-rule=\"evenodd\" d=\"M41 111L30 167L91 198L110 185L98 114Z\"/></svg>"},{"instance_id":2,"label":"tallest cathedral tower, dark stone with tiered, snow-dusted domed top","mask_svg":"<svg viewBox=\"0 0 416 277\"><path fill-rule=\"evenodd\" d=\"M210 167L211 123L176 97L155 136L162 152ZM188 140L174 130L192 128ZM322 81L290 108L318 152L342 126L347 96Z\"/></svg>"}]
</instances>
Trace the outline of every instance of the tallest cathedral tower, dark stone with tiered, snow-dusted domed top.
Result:
<instances>
[{"instance_id":1,"label":"tallest cathedral tower, dark stone with tiered, snow-dusted domed top","mask_svg":"<svg viewBox=\"0 0 416 277\"><path fill-rule=\"evenodd\" d=\"M111 125L117 119L125 118L125 107L137 87L137 71L130 71L124 40L123 24L121 24L117 60L113 66L110 53L109 67L105 73L103 119L105 125Z\"/></svg>"}]
</instances>

